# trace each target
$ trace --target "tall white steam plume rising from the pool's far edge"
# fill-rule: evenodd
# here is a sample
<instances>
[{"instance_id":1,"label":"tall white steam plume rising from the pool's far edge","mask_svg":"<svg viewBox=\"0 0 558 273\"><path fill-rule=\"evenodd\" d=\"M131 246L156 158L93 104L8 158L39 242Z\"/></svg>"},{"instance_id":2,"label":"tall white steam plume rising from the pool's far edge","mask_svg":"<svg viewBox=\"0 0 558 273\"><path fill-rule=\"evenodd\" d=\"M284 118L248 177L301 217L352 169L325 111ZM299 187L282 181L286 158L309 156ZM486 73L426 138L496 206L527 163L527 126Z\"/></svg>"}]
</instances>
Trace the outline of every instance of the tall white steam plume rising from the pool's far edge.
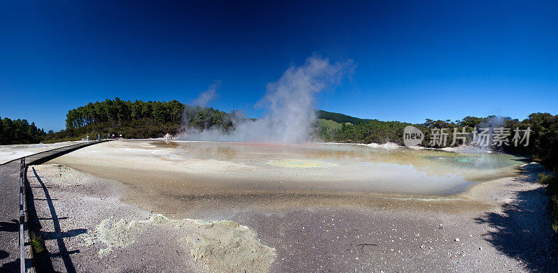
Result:
<instances>
[{"instance_id":1,"label":"tall white steam plume rising from the pool's far edge","mask_svg":"<svg viewBox=\"0 0 558 273\"><path fill-rule=\"evenodd\" d=\"M198 131L187 128L181 139L237 142L306 142L316 121L315 95L339 84L354 71L352 61L331 64L329 59L310 57L301 66L291 66L276 82L267 84L257 106L266 109L262 119L233 117L234 131L222 128Z\"/></svg>"}]
</instances>

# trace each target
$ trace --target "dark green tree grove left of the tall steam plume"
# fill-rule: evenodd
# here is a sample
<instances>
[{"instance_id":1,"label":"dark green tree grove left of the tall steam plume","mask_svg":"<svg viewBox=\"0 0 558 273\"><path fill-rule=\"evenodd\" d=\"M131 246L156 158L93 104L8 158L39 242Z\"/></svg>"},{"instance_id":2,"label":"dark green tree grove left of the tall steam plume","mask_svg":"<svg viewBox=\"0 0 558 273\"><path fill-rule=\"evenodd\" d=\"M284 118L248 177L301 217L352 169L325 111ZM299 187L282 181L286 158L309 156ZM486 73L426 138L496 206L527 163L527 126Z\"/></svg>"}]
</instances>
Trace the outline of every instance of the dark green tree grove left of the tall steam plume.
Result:
<instances>
[{"instance_id":1,"label":"dark green tree grove left of the tall steam plume","mask_svg":"<svg viewBox=\"0 0 558 273\"><path fill-rule=\"evenodd\" d=\"M89 135L122 135L123 138L155 138L166 133L176 134L184 124L199 130L220 126L232 128L234 112L202 108L179 101L122 101L115 98L88 103L68 111L66 130L48 134L45 142L80 140ZM183 122L184 121L184 122Z\"/></svg>"}]
</instances>

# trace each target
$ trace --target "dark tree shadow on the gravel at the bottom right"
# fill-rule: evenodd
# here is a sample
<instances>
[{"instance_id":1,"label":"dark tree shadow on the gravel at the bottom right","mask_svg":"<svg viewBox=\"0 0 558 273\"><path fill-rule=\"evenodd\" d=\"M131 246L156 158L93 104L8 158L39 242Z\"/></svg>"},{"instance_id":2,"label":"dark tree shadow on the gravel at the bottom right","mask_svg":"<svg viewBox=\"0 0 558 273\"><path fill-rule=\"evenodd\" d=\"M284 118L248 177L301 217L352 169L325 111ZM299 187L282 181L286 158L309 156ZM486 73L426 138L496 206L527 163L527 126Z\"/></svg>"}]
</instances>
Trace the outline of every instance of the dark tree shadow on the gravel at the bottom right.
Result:
<instances>
[{"instance_id":1,"label":"dark tree shadow on the gravel at the bottom right","mask_svg":"<svg viewBox=\"0 0 558 273\"><path fill-rule=\"evenodd\" d=\"M528 177L527 183L534 182ZM550 227L549 199L544 188L515 193L515 202L502 213L488 212L475 219L490 227L484 238L504 255L520 261L530 272L556 272L557 236Z\"/></svg>"}]
</instances>

